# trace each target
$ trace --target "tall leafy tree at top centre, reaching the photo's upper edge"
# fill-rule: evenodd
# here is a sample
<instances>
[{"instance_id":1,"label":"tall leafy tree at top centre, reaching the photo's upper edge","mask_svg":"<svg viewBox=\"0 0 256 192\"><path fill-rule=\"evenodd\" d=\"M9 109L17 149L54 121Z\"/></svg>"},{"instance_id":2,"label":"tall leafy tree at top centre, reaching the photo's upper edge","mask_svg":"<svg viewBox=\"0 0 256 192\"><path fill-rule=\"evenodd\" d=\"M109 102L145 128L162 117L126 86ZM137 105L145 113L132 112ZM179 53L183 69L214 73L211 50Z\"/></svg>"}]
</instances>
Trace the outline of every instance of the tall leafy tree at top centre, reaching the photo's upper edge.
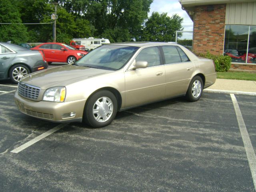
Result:
<instances>
[{"instance_id":1,"label":"tall leafy tree at top centre, reaching the photo's upper edge","mask_svg":"<svg viewBox=\"0 0 256 192\"><path fill-rule=\"evenodd\" d=\"M59 5L95 27L94 35L111 42L139 36L153 0L60 0Z\"/></svg>"}]
</instances>

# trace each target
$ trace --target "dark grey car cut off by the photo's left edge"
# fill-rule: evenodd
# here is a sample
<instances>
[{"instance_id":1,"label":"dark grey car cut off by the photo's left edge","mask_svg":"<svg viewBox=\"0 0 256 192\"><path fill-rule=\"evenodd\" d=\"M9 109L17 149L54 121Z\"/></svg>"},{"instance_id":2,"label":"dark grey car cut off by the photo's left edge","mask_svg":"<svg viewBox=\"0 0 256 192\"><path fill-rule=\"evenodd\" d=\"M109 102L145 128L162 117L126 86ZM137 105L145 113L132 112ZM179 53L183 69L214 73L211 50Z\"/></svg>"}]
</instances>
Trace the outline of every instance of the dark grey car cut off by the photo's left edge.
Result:
<instances>
[{"instance_id":1,"label":"dark grey car cut off by the photo's left edge","mask_svg":"<svg viewBox=\"0 0 256 192\"><path fill-rule=\"evenodd\" d=\"M18 83L31 73L48 68L42 51L30 50L18 45L0 42L0 79L10 78Z\"/></svg>"}]
</instances>

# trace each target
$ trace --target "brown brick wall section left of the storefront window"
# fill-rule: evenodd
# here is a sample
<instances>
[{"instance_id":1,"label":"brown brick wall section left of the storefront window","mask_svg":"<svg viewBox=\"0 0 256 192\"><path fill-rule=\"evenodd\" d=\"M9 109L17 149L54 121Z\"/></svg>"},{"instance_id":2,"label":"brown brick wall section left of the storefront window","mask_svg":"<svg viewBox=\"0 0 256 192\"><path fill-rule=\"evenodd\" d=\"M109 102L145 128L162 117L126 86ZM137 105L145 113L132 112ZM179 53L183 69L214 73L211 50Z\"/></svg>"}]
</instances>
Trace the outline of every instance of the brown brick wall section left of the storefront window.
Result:
<instances>
[{"instance_id":1,"label":"brown brick wall section left of the storefront window","mask_svg":"<svg viewBox=\"0 0 256 192\"><path fill-rule=\"evenodd\" d=\"M193 50L196 53L223 54L226 4L196 6L194 9Z\"/></svg>"}]
</instances>

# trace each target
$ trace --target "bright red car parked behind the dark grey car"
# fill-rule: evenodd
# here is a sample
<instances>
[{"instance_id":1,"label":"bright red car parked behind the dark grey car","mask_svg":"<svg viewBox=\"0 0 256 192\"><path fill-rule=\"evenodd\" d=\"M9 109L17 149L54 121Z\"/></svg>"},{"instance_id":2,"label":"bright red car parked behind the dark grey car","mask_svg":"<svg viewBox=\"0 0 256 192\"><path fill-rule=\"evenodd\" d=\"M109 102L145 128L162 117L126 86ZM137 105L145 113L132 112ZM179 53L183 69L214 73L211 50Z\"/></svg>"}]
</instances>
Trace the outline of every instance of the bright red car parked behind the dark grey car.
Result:
<instances>
[{"instance_id":1,"label":"bright red car parked behind the dark grey car","mask_svg":"<svg viewBox=\"0 0 256 192\"><path fill-rule=\"evenodd\" d=\"M42 50L48 64L51 62L67 62L72 64L88 53L63 43L43 43L31 49Z\"/></svg>"}]
</instances>

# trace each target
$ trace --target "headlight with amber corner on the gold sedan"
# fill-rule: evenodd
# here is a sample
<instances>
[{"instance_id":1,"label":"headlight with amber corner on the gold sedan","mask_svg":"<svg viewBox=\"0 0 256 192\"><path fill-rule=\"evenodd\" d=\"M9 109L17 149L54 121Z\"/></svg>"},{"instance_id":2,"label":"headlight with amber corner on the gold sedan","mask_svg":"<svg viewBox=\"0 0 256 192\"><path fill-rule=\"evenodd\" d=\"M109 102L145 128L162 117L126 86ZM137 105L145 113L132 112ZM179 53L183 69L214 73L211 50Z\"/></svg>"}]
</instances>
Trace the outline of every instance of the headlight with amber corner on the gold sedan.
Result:
<instances>
[{"instance_id":1,"label":"headlight with amber corner on the gold sedan","mask_svg":"<svg viewBox=\"0 0 256 192\"><path fill-rule=\"evenodd\" d=\"M44 101L64 102L66 87L52 87L44 92Z\"/></svg>"}]
</instances>

